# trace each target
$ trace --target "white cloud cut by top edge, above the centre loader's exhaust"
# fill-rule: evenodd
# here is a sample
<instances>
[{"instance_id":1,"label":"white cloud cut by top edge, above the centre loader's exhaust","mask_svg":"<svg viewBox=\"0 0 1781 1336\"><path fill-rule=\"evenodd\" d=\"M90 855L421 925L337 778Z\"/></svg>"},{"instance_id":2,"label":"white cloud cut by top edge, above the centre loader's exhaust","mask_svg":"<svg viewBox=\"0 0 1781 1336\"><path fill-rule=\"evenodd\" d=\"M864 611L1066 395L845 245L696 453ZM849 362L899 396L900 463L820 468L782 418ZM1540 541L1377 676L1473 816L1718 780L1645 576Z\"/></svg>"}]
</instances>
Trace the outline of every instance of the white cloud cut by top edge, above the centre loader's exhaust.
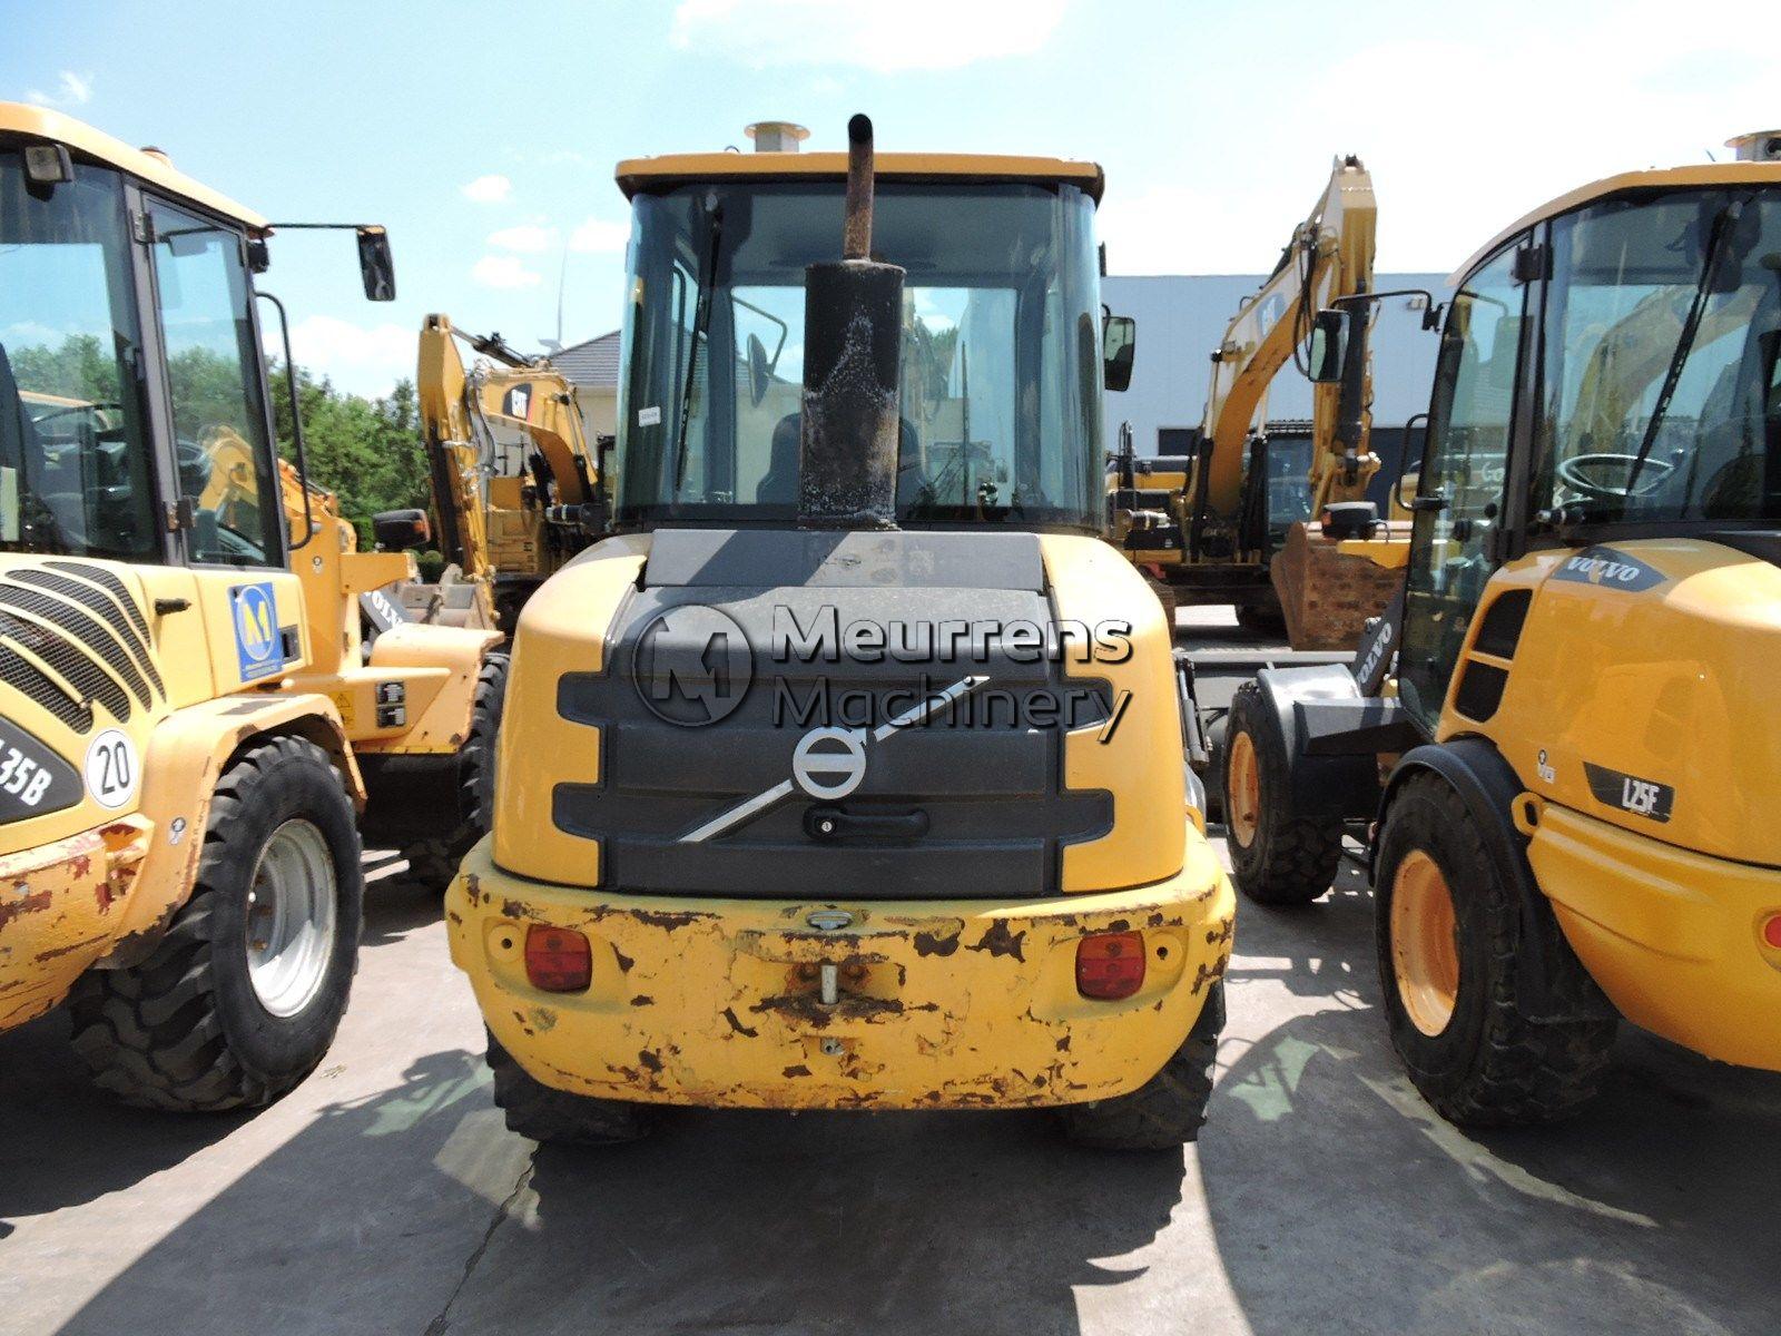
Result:
<instances>
[{"instance_id":1,"label":"white cloud cut by top edge, above the centre loader's exhaust","mask_svg":"<svg viewBox=\"0 0 1781 1336\"><path fill-rule=\"evenodd\" d=\"M1069 0L680 0L670 41L757 69L844 64L894 73L1031 55Z\"/></svg>"}]
</instances>

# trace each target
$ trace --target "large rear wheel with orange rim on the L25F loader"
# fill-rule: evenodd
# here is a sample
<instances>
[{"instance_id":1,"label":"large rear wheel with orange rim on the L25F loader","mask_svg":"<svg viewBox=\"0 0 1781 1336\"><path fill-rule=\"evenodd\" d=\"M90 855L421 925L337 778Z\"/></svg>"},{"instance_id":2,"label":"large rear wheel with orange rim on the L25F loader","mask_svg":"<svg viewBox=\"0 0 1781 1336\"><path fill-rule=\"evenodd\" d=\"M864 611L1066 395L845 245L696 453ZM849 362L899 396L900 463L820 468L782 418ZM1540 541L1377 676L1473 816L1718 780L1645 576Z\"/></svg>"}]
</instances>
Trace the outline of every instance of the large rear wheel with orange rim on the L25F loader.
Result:
<instances>
[{"instance_id":1,"label":"large rear wheel with orange rim on the L25F loader","mask_svg":"<svg viewBox=\"0 0 1781 1336\"><path fill-rule=\"evenodd\" d=\"M1405 912L1430 901L1430 885L1437 887L1439 933L1427 932L1427 910L1419 921ZM1435 775L1409 777L1386 812L1375 905L1391 1044L1444 1119L1476 1128L1553 1122L1596 1094L1617 1021L1535 1022L1521 1014L1517 896L1466 802ZM1448 914L1453 951L1437 951L1430 967ZM1582 971L1557 925L1546 946Z\"/></svg>"}]
</instances>

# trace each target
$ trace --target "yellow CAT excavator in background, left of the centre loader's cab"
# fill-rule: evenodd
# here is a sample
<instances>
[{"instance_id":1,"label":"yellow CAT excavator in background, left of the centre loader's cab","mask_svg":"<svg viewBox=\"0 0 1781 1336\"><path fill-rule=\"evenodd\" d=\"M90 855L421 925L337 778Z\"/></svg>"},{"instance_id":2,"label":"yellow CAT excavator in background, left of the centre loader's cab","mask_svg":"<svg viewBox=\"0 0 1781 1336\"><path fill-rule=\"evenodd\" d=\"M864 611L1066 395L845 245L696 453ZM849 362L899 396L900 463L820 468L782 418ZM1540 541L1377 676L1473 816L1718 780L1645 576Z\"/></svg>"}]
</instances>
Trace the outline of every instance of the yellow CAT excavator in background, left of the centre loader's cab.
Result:
<instances>
[{"instance_id":1,"label":"yellow CAT excavator in background, left of the centre loader's cab","mask_svg":"<svg viewBox=\"0 0 1781 1336\"><path fill-rule=\"evenodd\" d=\"M459 342L477 354L468 369ZM447 315L420 328L415 383L447 566L436 584L404 586L404 606L422 622L511 636L545 577L611 527L598 445L588 445L575 387L549 360ZM385 511L372 525L392 550L435 540L424 511Z\"/></svg>"}]
</instances>

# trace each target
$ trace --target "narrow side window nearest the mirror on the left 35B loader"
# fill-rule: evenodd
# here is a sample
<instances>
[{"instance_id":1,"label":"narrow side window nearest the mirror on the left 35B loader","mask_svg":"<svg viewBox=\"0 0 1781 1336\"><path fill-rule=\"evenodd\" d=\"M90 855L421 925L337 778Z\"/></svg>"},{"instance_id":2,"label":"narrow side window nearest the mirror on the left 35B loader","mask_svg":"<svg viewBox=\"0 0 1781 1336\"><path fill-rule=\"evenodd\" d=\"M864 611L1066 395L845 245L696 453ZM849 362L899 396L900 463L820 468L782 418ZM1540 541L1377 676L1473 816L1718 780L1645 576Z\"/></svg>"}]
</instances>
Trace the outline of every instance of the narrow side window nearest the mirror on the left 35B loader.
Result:
<instances>
[{"instance_id":1,"label":"narrow side window nearest the mirror on the left 35B loader","mask_svg":"<svg viewBox=\"0 0 1781 1336\"><path fill-rule=\"evenodd\" d=\"M191 559L278 565L281 504L240 237L159 203L150 223Z\"/></svg>"}]
</instances>

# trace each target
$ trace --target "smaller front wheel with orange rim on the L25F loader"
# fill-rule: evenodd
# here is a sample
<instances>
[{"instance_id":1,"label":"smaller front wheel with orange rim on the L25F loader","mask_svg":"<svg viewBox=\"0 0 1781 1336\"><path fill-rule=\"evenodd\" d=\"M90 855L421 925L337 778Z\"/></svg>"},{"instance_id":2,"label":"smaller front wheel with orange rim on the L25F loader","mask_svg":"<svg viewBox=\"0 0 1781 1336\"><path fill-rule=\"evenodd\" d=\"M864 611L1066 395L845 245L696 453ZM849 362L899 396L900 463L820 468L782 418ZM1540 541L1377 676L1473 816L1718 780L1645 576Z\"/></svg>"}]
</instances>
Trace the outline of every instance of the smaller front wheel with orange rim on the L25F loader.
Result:
<instances>
[{"instance_id":1,"label":"smaller front wheel with orange rim on the L25F loader","mask_svg":"<svg viewBox=\"0 0 1781 1336\"><path fill-rule=\"evenodd\" d=\"M1257 905L1309 905L1336 882L1339 816L1300 812L1281 720L1256 682L1231 700L1224 746L1232 880Z\"/></svg>"}]
</instances>

